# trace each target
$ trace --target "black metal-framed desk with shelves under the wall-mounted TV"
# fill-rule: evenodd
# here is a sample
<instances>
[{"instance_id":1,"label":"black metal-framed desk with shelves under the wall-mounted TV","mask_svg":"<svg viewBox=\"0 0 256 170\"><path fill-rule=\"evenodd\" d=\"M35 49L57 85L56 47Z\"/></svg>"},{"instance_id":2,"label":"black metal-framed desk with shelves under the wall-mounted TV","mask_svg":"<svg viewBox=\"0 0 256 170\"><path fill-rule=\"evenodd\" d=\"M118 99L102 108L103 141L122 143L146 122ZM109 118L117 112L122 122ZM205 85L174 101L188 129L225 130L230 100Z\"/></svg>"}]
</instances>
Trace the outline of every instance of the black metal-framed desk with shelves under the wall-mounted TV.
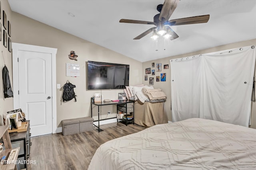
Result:
<instances>
[{"instance_id":1,"label":"black metal-framed desk with shelves under the wall-mounted TV","mask_svg":"<svg viewBox=\"0 0 256 170\"><path fill-rule=\"evenodd\" d=\"M132 103L132 105L134 104L134 101L130 101L130 100L123 100L123 101L118 101L118 102L112 102L112 101L110 101L110 102L95 102L95 103L91 103L91 117L92 117L92 109L94 108L94 107L92 107L92 105L94 105L94 106L98 106L98 120L95 120L95 121L98 121L98 126L97 125L95 125L95 124L93 124L95 127L98 127L98 129L96 129L96 131L98 131L98 132L101 132L101 131L103 131L102 129L100 129L100 120L107 120L107 119L100 119L100 107L101 106L106 106L106 105L116 105L116 108L117 108L117 111L116 111L116 113L118 113L118 106L122 106L122 107L126 107L126 113L128 112L128 110L127 110L127 107L129 107L130 105L129 104L131 104ZM133 110L134 111L134 110ZM134 112L133 112L133 115L134 115ZM108 118L108 119L112 119L112 118ZM94 122L95 122L94 121ZM118 121L117 121L118 122ZM133 117L133 124L134 124L134 117ZM127 126L127 122L126 122L126 126Z\"/></svg>"}]
</instances>

